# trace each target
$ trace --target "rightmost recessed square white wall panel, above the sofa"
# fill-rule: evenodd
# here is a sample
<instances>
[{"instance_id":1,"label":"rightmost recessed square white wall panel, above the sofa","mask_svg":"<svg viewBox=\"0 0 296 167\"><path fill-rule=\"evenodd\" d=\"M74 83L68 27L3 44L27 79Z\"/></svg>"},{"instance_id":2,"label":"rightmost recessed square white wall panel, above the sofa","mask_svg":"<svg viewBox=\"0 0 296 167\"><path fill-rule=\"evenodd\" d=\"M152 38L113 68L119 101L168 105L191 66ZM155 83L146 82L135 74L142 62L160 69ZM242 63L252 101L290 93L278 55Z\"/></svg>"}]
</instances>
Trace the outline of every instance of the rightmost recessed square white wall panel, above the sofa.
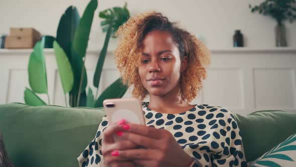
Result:
<instances>
[{"instance_id":1,"label":"rightmost recessed square white wall panel, above the sofa","mask_svg":"<svg viewBox=\"0 0 296 167\"><path fill-rule=\"evenodd\" d=\"M295 77L290 68L255 68L255 108L295 109Z\"/></svg>"}]
</instances>

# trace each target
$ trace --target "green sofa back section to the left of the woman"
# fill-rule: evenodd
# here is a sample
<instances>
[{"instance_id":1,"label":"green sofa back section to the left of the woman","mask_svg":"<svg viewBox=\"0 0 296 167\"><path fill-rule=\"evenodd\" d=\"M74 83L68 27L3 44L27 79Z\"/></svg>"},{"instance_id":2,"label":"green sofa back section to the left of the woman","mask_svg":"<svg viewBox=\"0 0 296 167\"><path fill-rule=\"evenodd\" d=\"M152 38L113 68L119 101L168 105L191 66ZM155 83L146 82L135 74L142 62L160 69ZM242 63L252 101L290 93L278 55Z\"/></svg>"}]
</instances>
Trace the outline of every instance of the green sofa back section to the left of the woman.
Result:
<instances>
[{"instance_id":1,"label":"green sofa back section to the left of the woman","mask_svg":"<svg viewBox=\"0 0 296 167\"><path fill-rule=\"evenodd\" d=\"M0 105L0 132L15 166L78 166L101 109Z\"/></svg>"}]
</instances>

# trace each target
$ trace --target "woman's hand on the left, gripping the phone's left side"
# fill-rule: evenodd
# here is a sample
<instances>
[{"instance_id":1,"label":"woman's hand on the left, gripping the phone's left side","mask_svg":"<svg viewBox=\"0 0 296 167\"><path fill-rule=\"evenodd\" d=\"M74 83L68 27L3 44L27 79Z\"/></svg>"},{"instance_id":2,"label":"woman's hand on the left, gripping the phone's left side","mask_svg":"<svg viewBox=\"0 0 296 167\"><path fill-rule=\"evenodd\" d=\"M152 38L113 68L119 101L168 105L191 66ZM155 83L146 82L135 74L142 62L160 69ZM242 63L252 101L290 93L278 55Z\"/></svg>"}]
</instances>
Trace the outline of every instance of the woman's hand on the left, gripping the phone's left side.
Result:
<instances>
[{"instance_id":1,"label":"woman's hand on the left, gripping the phone's left side","mask_svg":"<svg viewBox=\"0 0 296 167\"><path fill-rule=\"evenodd\" d=\"M118 123L111 124L109 125L105 130L104 130L104 137L102 140L102 154L103 154L103 165L106 166L134 166L133 162L130 160L127 160L126 158L120 158L116 157L116 151L114 150L119 150L123 151L126 149L132 149L136 148L136 144L124 140L124 141L117 141L114 142L113 140L113 134L117 134L120 136L122 134L123 125L124 125L125 120L121 120Z\"/></svg>"}]
</instances>

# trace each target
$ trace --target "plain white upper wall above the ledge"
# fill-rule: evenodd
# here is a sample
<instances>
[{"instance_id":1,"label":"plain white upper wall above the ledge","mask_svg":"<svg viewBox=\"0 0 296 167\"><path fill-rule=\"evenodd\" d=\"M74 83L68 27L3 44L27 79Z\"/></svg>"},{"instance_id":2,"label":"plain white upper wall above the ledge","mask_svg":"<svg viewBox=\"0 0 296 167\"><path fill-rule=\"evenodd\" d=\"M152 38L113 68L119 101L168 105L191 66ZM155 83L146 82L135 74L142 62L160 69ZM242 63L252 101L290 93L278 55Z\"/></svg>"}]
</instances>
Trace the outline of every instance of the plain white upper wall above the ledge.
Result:
<instances>
[{"instance_id":1,"label":"plain white upper wall above the ledge","mask_svg":"<svg viewBox=\"0 0 296 167\"><path fill-rule=\"evenodd\" d=\"M61 15L68 6L74 5L82 15L87 0L0 0L0 34L9 34L9 27L34 27L42 34L56 35ZM126 0L131 15L149 10L164 13L172 21L179 21L195 35L202 35L209 48L231 48L235 29L241 29L245 46L250 48L275 47L274 27L276 22L269 17L251 13L248 4L262 0ZM99 50L105 35L101 32L98 11L114 6L123 6L124 1L99 0L89 49ZM296 23L286 23L287 43L296 48ZM109 50L116 46L112 40Z\"/></svg>"}]
</instances>

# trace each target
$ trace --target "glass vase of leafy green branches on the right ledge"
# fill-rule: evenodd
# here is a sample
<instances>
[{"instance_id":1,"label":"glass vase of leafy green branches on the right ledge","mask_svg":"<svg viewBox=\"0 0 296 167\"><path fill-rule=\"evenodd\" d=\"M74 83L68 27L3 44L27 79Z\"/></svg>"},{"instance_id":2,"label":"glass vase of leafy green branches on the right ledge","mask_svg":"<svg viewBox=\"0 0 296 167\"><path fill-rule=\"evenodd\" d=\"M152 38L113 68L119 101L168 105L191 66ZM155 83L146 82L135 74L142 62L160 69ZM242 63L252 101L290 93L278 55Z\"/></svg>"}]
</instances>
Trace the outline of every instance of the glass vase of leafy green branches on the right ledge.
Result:
<instances>
[{"instance_id":1,"label":"glass vase of leafy green branches on the right ledge","mask_svg":"<svg viewBox=\"0 0 296 167\"><path fill-rule=\"evenodd\" d=\"M259 6L251 7L251 12L259 11L259 14L269 15L276 20L275 26L275 45L277 47L287 46L286 31L283 21L290 23L296 19L296 1L295 0L265 0Z\"/></svg>"}]
</instances>

